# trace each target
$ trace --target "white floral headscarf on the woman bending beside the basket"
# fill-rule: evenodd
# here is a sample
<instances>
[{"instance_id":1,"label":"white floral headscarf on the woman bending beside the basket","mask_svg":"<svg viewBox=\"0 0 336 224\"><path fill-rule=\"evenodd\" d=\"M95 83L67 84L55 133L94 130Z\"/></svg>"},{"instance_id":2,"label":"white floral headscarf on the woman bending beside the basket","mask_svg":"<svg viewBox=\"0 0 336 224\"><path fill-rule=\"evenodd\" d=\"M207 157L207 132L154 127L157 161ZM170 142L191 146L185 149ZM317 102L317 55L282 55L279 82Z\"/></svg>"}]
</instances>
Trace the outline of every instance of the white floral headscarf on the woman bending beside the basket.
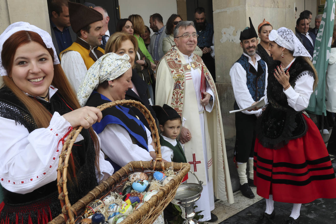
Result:
<instances>
[{"instance_id":1,"label":"white floral headscarf on the woman bending beside the basket","mask_svg":"<svg viewBox=\"0 0 336 224\"><path fill-rule=\"evenodd\" d=\"M79 86L77 99L81 106L85 106L92 91L98 84L108 80L114 80L131 68L130 57L127 54L122 56L116 53L107 53L101 56L86 72L84 79Z\"/></svg>"}]
</instances>

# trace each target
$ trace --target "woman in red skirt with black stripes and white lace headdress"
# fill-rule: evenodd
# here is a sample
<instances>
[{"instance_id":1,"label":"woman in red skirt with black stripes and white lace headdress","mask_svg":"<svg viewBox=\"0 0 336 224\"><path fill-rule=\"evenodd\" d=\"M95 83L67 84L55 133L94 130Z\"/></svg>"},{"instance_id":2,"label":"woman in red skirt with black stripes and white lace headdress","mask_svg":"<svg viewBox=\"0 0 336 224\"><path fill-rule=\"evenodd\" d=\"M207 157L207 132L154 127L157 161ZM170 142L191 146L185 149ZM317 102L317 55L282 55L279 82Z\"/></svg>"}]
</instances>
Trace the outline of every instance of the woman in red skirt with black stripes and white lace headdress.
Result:
<instances>
[{"instance_id":1,"label":"woman in red skirt with black stripes and white lace headdress","mask_svg":"<svg viewBox=\"0 0 336 224\"><path fill-rule=\"evenodd\" d=\"M287 28L272 30L269 41L281 65L268 75L269 104L257 124L254 184L266 198L257 223L275 217L274 200L293 203L284 223L298 223L301 203L336 197L336 179L321 134L304 111L318 81L311 56Z\"/></svg>"}]
</instances>

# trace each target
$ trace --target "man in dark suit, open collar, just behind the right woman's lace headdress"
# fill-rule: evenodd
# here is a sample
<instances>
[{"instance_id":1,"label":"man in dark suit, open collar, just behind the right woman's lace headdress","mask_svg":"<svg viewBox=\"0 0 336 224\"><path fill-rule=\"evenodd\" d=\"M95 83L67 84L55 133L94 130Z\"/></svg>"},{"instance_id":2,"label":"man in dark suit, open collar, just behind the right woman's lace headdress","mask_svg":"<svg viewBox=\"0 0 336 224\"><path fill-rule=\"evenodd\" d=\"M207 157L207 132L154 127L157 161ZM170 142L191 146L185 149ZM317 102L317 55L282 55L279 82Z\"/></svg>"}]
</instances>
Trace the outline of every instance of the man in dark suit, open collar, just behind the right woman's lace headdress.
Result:
<instances>
[{"instance_id":1,"label":"man in dark suit, open collar, just behind the right woman's lace headdress","mask_svg":"<svg viewBox=\"0 0 336 224\"><path fill-rule=\"evenodd\" d=\"M313 57L316 35L309 32L309 18L300 17L296 20L295 35Z\"/></svg>"}]
</instances>

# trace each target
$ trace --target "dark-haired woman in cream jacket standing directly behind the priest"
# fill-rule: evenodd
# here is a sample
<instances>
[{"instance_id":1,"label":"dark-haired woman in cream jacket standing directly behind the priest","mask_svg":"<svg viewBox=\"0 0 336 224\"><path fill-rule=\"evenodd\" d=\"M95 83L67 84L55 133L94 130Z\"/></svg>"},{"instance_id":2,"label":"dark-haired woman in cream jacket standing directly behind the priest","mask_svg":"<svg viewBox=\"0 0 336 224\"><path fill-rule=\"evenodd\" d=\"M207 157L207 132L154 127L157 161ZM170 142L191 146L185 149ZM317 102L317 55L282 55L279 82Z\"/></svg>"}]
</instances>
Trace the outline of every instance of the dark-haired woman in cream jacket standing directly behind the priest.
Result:
<instances>
[{"instance_id":1,"label":"dark-haired woman in cream jacket standing directly behind the priest","mask_svg":"<svg viewBox=\"0 0 336 224\"><path fill-rule=\"evenodd\" d=\"M162 50L164 53L167 53L170 50L170 48L175 45L173 34L174 28L181 21L183 20L181 19L181 16L178 14L172 14L167 20L166 34L169 35L169 37L163 38L162 40ZM198 46L196 46L196 49L194 50L193 53L199 55L200 57L202 57L203 55L202 50Z\"/></svg>"}]
</instances>

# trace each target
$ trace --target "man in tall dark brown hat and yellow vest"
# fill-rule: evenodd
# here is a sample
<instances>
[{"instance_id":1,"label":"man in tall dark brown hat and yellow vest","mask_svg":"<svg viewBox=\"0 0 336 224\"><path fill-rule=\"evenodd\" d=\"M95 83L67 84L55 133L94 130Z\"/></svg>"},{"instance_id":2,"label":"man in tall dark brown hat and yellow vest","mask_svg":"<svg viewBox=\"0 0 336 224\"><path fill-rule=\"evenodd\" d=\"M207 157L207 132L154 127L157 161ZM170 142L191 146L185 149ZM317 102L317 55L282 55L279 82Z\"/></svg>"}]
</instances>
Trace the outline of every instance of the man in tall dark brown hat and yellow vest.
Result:
<instances>
[{"instance_id":1,"label":"man in tall dark brown hat and yellow vest","mask_svg":"<svg viewBox=\"0 0 336 224\"><path fill-rule=\"evenodd\" d=\"M100 12L74 2L69 2L68 6L71 27L78 37L59 57L66 76L77 92L87 70L105 53L98 47L105 33Z\"/></svg>"}]
</instances>

